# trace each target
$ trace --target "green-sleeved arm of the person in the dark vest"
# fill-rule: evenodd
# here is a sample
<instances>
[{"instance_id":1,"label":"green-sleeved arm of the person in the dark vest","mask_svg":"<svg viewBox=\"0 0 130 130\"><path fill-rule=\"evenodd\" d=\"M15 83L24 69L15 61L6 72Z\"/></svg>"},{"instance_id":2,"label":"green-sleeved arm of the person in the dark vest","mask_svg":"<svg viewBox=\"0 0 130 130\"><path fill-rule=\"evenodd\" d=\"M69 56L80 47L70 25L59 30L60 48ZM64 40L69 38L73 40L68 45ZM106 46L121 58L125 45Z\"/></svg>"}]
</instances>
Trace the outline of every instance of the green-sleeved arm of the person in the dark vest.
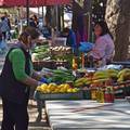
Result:
<instances>
[{"instance_id":1,"label":"green-sleeved arm of the person in the dark vest","mask_svg":"<svg viewBox=\"0 0 130 130\"><path fill-rule=\"evenodd\" d=\"M14 49L9 54L9 60L12 63L12 68L16 80L32 88L38 86L38 81L25 73L25 55L21 49Z\"/></svg>"}]
</instances>

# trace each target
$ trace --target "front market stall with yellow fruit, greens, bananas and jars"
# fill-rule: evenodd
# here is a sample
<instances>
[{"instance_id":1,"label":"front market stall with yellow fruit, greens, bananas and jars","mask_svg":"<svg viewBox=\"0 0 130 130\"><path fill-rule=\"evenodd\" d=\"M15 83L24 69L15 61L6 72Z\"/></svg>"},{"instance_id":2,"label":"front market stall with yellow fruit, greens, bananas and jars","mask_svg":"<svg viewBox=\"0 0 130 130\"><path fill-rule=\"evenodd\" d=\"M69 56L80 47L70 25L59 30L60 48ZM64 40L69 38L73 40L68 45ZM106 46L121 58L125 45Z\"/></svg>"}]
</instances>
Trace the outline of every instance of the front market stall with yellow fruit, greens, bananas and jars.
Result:
<instances>
[{"instance_id":1,"label":"front market stall with yellow fruit, greens, bananas and jars","mask_svg":"<svg viewBox=\"0 0 130 130\"><path fill-rule=\"evenodd\" d=\"M115 104L116 99L130 96L129 68L77 69L76 75L65 68L42 69L43 74L46 72L51 73L49 81L52 83L43 83L36 91L40 110L47 100L91 100Z\"/></svg>"}]
</instances>

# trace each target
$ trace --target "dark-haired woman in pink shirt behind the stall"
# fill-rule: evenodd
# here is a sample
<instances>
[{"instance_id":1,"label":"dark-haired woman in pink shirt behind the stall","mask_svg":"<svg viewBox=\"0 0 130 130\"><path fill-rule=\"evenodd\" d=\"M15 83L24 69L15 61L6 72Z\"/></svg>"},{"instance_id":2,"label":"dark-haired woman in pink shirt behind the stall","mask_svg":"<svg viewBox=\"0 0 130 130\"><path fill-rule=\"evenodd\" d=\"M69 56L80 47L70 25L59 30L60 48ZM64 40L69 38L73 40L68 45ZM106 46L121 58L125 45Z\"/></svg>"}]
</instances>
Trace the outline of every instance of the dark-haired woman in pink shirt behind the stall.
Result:
<instances>
[{"instance_id":1,"label":"dark-haired woman in pink shirt behind the stall","mask_svg":"<svg viewBox=\"0 0 130 130\"><path fill-rule=\"evenodd\" d=\"M94 34L96 37L95 44L88 57L90 63L100 63L99 66L104 66L114 57L114 41L105 22L95 24Z\"/></svg>"}]
</instances>

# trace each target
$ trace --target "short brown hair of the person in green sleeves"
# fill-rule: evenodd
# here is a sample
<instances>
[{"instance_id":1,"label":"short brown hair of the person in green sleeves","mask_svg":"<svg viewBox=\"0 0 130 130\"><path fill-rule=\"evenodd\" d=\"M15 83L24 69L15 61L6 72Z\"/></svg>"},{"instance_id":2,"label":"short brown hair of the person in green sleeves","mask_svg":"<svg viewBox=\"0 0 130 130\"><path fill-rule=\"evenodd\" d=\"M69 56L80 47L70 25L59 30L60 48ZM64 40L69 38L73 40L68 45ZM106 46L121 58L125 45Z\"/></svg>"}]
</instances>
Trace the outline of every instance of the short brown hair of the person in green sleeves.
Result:
<instances>
[{"instance_id":1,"label":"short brown hair of the person in green sleeves","mask_svg":"<svg viewBox=\"0 0 130 130\"><path fill-rule=\"evenodd\" d=\"M18 40L26 43L28 36L30 36L31 39L37 39L40 36L40 32L35 27L25 27L23 32L20 35Z\"/></svg>"}]
</instances>

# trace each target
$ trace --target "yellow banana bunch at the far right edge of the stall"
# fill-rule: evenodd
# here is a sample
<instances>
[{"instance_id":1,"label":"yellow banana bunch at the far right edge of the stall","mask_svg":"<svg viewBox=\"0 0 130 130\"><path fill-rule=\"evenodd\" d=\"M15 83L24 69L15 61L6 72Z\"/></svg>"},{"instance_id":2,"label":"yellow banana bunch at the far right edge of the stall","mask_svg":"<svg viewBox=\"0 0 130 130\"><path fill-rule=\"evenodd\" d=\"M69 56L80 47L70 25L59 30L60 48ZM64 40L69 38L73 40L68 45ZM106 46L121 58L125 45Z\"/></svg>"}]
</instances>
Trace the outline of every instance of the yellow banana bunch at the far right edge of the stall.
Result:
<instances>
[{"instance_id":1,"label":"yellow banana bunch at the far right edge of the stall","mask_svg":"<svg viewBox=\"0 0 130 130\"><path fill-rule=\"evenodd\" d=\"M120 70L117 75L118 77L118 82L130 80L130 68L123 68Z\"/></svg>"}]
</instances>

